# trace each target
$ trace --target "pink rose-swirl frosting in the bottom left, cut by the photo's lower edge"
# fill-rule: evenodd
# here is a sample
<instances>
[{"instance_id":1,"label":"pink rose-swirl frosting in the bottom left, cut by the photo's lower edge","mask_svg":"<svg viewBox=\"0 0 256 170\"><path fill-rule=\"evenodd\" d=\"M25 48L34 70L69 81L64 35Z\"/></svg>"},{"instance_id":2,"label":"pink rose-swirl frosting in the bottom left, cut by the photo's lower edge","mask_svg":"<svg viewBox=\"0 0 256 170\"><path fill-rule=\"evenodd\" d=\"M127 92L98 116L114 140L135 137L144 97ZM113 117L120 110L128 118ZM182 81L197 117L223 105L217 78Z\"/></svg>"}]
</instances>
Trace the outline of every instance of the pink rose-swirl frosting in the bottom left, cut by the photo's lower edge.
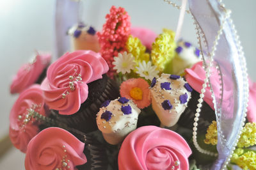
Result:
<instances>
[{"instance_id":1,"label":"pink rose-swirl frosting in the bottom left, cut by the photo's lower edge","mask_svg":"<svg viewBox=\"0 0 256 170\"><path fill-rule=\"evenodd\" d=\"M25 167L31 169L76 169L87 162L84 143L66 130L45 128L28 144Z\"/></svg>"}]
</instances>

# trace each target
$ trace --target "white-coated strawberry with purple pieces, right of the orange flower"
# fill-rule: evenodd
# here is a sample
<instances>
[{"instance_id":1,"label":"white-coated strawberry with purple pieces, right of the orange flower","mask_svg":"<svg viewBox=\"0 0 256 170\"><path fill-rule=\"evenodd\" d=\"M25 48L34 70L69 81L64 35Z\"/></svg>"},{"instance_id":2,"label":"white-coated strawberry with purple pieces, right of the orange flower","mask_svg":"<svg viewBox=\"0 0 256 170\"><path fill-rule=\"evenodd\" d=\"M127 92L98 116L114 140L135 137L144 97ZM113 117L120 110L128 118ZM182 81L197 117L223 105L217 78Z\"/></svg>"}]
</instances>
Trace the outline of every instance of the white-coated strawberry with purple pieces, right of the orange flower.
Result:
<instances>
[{"instance_id":1,"label":"white-coated strawberry with purple pieces, right of the orange flower","mask_svg":"<svg viewBox=\"0 0 256 170\"><path fill-rule=\"evenodd\" d=\"M152 80L152 108L162 125L172 127L177 123L191 98L191 91L189 84L179 75L163 73Z\"/></svg>"}]
</instances>

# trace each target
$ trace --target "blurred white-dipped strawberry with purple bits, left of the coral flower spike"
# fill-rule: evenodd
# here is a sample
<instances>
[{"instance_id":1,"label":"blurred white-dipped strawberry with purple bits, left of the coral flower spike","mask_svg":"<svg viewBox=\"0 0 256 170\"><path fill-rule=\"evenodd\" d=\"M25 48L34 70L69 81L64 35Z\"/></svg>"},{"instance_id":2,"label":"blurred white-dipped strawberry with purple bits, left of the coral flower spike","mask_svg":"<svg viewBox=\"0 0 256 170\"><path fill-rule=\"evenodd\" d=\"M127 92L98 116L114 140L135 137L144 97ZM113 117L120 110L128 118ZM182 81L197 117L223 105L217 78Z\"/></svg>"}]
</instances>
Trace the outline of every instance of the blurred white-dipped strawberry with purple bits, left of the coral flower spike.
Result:
<instances>
[{"instance_id":1,"label":"blurred white-dipped strawberry with purple bits, left of the coral flower spike","mask_svg":"<svg viewBox=\"0 0 256 170\"><path fill-rule=\"evenodd\" d=\"M85 26L80 23L68 30L71 36L71 51L75 50L93 50L99 52L100 45L96 31L92 26Z\"/></svg>"}]
</instances>

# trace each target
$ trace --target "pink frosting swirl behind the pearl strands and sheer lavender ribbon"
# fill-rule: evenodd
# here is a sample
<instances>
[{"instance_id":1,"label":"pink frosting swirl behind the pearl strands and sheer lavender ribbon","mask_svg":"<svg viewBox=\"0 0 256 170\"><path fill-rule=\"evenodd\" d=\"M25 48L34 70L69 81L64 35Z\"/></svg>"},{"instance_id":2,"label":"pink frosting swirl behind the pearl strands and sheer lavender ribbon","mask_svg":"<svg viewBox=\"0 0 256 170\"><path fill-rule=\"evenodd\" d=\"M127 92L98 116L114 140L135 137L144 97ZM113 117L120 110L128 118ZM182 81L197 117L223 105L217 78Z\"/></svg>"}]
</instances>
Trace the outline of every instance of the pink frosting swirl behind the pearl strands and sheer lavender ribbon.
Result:
<instances>
[{"instance_id":1,"label":"pink frosting swirl behind the pearl strands and sheer lavender ribbon","mask_svg":"<svg viewBox=\"0 0 256 170\"><path fill-rule=\"evenodd\" d=\"M185 72L185 78L186 81L188 81L189 85L195 89L198 93L201 93L202 86L204 84L205 79L205 71L204 68L202 68L203 61L200 61L192 66L192 68L186 68ZM215 98L220 98L220 81L219 81L219 75L216 69L211 68L211 85L212 89L214 91ZM232 96L232 88L228 87L228 84L230 82L227 82L228 80L223 77L224 81L224 88L223 88L223 102L222 102L222 109L225 110L227 114L225 114L225 118L232 118L232 105L230 102L230 98ZM205 88L204 93L204 101L214 110L214 104L212 103L212 97L211 97L211 88L207 86Z\"/></svg>"}]
</instances>

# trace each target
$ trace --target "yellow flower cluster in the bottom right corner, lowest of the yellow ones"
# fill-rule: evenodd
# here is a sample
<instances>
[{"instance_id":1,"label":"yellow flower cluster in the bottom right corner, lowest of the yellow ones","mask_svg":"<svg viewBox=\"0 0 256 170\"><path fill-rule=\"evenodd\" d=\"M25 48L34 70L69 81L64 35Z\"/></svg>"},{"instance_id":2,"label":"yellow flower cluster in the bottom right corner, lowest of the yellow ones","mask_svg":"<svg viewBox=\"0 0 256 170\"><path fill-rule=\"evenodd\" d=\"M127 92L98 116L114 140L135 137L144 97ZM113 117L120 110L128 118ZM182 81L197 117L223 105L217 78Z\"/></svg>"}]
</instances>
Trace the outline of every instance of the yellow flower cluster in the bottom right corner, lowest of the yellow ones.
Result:
<instances>
[{"instance_id":1,"label":"yellow flower cluster in the bottom right corner, lowest of the yellow ones","mask_svg":"<svg viewBox=\"0 0 256 170\"><path fill-rule=\"evenodd\" d=\"M244 151L238 148L234 151L230 161L242 169L256 169L256 153L254 151Z\"/></svg>"}]
</instances>

